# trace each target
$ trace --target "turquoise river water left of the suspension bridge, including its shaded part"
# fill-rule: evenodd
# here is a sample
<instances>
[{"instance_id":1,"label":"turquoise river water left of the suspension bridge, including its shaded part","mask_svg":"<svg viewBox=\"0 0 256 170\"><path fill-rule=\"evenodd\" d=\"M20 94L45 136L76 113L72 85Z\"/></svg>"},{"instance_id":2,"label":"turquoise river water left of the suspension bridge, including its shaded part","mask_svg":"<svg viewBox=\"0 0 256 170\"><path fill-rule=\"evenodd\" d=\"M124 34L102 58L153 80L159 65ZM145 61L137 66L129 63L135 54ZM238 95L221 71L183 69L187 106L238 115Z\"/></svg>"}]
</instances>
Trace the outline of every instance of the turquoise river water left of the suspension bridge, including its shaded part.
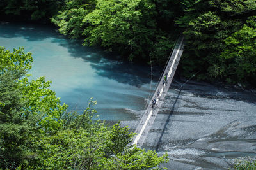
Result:
<instances>
[{"instance_id":1,"label":"turquoise river water left of the suspension bridge, including its shaded part","mask_svg":"<svg viewBox=\"0 0 256 170\"><path fill-rule=\"evenodd\" d=\"M24 46L34 57L32 78L52 80L51 89L68 110L83 112L90 97L98 101L100 119L131 120L145 106L150 90L150 67L118 61L114 54L81 45L54 27L0 24L0 46Z\"/></svg>"}]
</instances>

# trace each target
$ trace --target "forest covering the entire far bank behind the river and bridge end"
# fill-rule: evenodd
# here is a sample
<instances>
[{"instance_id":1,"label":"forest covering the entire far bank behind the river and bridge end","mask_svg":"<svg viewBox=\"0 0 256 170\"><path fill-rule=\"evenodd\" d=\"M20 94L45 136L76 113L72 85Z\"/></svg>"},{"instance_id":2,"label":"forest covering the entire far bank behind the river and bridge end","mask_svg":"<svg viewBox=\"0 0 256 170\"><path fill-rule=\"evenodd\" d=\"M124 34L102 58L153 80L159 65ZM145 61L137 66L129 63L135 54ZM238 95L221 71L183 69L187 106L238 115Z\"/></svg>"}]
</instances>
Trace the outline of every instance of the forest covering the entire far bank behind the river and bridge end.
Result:
<instances>
[{"instance_id":1,"label":"forest covering the entire far bank behind the river and bridge end","mask_svg":"<svg viewBox=\"0 0 256 170\"><path fill-rule=\"evenodd\" d=\"M55 24L83 45L153 65L164 65L184 34L182 76L256 84L256 0L3 0L0 7L2 19Z\"/></svg>"}]
</instances>

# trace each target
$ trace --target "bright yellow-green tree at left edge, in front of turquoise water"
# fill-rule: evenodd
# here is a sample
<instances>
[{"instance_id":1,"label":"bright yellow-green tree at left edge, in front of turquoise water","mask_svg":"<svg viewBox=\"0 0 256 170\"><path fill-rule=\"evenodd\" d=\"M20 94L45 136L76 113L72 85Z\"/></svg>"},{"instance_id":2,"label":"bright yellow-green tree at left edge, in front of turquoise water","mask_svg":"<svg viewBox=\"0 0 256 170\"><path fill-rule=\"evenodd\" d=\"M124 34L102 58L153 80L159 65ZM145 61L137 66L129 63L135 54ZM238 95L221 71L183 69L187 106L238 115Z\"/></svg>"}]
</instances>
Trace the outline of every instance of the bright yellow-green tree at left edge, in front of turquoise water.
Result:
<instances>
[{"instance_id":1,"label":"bright yellow-green tree at left edge, in front of turquoise water","mask_svg":"<svg viewBox=\"0 0 256 170\"><path fill-rule=\"evenodd\" d=\"M0 159L1 167L25 166L35 158L36 136L62 128L61 106L44 78L28 82L31 53L0 48Z\"/></svg>"}]
</instances>

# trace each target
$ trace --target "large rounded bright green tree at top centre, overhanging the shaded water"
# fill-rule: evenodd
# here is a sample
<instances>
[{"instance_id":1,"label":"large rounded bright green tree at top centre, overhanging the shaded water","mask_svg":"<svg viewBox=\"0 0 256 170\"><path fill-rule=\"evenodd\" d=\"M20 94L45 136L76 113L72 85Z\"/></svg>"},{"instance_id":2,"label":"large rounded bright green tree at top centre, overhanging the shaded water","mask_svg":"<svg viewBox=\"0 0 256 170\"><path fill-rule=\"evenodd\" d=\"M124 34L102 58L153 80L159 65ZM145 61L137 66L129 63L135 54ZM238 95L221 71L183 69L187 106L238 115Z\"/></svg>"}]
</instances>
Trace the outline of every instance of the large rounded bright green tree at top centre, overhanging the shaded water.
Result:
<instances>
[{"instance_id":1,"label":"large rounded bright green tree at top centre, overhanging the shaded water","mask_svg":"<svg viewBox=\"0 0 256 170\"><path fill-rule=\"evenodd\" d=\"M154 4L148 0L99 0L95 10L84 17L85 45L117 50L129 60L150 52L156 33Z\"/></svg>"}]
</instances>

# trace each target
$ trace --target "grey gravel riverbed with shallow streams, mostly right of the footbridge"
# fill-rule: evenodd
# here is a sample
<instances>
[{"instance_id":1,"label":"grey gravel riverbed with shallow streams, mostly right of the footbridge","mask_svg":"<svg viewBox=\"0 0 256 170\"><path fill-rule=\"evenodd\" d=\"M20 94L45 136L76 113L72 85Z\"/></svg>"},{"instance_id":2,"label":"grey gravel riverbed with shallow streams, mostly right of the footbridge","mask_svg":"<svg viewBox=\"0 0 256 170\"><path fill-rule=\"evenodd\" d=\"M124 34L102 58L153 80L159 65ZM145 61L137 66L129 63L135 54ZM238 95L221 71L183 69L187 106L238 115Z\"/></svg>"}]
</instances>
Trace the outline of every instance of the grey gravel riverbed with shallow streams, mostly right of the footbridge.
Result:
<instances>
[{"instance_id":1,"label":"grey gravel riverbed with shallow streams, mostly right of the footbridge","mask_svg":"<svg viewBox=\"0 0 256 170\"><path fill-rule=\"evenodd\" d=\"M256 95L253 90L175 80L143 148L167 152L168 169L228 169L236 157L256 157ZM132 131L134 121L124 121Z\"/></svg>"}]
</instances>

